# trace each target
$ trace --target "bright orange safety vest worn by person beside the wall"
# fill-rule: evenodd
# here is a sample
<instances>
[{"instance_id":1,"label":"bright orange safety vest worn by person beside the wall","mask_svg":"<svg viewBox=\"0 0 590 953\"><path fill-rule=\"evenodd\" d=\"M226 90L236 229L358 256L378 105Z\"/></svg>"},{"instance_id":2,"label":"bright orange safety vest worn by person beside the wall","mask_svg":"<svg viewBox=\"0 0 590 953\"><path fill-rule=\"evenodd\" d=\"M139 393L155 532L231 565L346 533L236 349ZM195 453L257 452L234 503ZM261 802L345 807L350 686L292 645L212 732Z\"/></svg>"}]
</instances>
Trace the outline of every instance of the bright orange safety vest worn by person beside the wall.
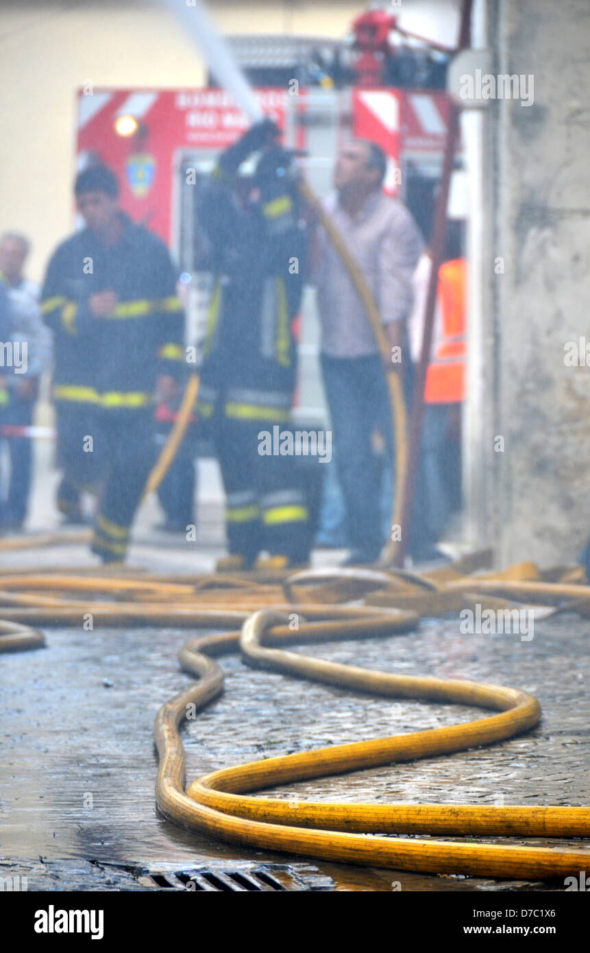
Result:
<instances>
[{"instance_id":1,"label":"bright orange safety vest worn by person beside the wall","mask_svg":"<svg viewBox=\"0 0 590 953\"><path fill-rule=\"evenodd\" d=\"M465 259L456 258L441 265L438 269L438 306L442 334L426 373L424 400L427 404L456 403L465 396L466 291Z\"/></svg>"}]
</instances>

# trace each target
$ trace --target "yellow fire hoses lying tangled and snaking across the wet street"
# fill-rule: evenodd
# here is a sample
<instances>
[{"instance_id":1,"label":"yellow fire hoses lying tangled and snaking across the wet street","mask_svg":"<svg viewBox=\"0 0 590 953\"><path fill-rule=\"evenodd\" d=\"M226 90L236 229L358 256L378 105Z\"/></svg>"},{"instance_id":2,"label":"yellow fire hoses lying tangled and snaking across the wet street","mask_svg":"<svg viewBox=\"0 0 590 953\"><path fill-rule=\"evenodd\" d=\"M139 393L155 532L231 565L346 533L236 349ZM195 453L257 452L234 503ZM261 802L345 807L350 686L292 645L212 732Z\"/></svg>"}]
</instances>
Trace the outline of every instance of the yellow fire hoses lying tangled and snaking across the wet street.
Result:
<instances>
[{"instance_id":1,"label":"yellow fire hoses lying tangled and snaking across the wet street","mask_svg":"<svg viewBox=\"0 0 590 953\"><path fill-rule=\"evenodd\" d=\"M551 574L548 574L551 575ZM557 578L556 578L557 577ZM416 678L317 659L286 649L328 639L386 637L416 627L419 617L480 603L514 607L515 598L552 613L590 605L581 570L541 578L530 563L504 574L463 575L461 567L428 575L373 570L316 570L289 578L169 576L119 571L118 577L0 572L0 650L41 644L43 625L166 625L231 631L190 639L180 650L195 684L167 701L155 720L160 758L159 810L174 823L249 847L331 861L428 873L496 878L560 878L586 869L587 850L434 840L440 836L585 838L590 808L481 807L465 804L372 804L284 801L254 794L276 784L437 757L498 743L533 728L539 702L519 689L460 679ZM347 604L354 599L355 604ZM509 601L505 601L508 599ZM31 635L31 645L11 639ZM6 633L6 634L3 634ZM34 639L37 639L35 642ZM390 738L352 741L224 768L185 788L179 733L190 708L202 709L223 690L215 660L242 659L298 679L327 682L384 698L431 700L491 709L484 718ZM304 736L304 727L302 735ZM410 834L411 838L398 835ZM416 835L428 835L428 839Z\"/></svg>"}]
</instances>

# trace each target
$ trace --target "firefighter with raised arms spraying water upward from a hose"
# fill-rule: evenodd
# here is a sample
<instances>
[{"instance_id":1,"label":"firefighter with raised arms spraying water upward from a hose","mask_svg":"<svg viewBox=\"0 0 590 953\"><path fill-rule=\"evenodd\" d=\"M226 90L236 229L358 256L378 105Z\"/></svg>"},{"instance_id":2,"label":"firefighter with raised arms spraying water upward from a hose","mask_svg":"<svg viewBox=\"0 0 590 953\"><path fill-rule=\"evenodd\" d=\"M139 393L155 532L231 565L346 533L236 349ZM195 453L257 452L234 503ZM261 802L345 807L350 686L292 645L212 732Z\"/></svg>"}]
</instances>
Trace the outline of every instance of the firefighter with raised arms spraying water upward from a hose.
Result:
<instances>
[{"instance_id":1,"label":"firefighter with raised arms spraying water upward from a hose","mask_svg":"<svg viewBox=\"0 0 590 953\"><path fill-rule=\"evenodd\" d=\"M258 453L261 433L289 425L307 257L294 157L277 134L265 120L223 152L198 209L214 290L197 412L209 421L227 497L230 555L219 570L303 563L311 542L301 471L287 456ZM238 167L258 151L253 187L240 199Z\"/></svg>"}]
</instances>

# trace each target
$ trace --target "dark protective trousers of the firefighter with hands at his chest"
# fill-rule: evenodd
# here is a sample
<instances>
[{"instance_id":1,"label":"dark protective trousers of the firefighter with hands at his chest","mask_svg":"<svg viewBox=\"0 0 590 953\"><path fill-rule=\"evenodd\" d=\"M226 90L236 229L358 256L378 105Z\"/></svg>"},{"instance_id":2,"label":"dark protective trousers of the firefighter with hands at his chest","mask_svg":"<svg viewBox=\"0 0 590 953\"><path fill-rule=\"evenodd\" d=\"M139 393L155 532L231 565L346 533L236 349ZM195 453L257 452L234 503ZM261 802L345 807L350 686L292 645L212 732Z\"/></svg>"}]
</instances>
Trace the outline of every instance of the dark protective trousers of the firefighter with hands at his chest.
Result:
<instances>
[{"instance_id":1,"label":"dark protective trousers of the firefighter with hands at his chest","mask_svg":"<svg viewBox=\"0 0 590 953\"><path fill-rule=\"evenodd\" d=\"M153 410L58 409L58 456L66 486L98 496L92 552L125 558L132 520L155 459Z\"/></svg>"}]
</instances>

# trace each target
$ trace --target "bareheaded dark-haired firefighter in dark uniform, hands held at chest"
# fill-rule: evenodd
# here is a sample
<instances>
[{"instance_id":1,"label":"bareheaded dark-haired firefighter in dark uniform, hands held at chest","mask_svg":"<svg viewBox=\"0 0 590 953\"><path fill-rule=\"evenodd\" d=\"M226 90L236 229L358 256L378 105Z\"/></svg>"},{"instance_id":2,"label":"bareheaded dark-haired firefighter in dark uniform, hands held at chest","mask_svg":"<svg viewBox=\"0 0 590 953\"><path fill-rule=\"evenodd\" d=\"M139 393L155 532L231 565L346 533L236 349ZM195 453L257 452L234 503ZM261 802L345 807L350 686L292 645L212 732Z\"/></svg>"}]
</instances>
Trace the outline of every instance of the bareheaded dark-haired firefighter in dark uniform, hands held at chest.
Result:
<instances>
[{"instance_id":1,"label":"bareheaded dark-haired firefighter in dark uniform, hands held at chest","mask_svg":"<svg viewBox=\"0 0 590 953\"><path fill-rule=\"evenodd\" d=\"M154 393L173 397L185 367L170 255L120 211L118 193L105 166L78 174L87 227L53 253L42 294L55 335L59 460L67 488L98 495L92 552L103 562L125 558L153 464Z\"/></svg>"}]
</instances>

